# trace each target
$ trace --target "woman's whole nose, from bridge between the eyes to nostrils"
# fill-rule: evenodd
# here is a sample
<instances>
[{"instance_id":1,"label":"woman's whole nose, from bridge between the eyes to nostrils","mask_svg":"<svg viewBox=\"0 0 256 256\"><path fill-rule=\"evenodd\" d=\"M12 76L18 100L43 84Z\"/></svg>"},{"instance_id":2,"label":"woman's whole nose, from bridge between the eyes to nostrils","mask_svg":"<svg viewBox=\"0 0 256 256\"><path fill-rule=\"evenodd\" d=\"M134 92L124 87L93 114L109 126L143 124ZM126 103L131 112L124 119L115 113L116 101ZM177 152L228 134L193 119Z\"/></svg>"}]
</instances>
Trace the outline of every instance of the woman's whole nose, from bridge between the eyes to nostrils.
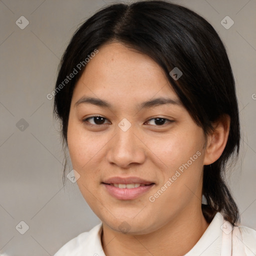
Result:
<instances>
[{"instance_id":1,"label":"woman's whole nose, from bridge between the eyes to nostrils","mask_svg":"<svg viewBox=\"0 0 256 256\"><path fill-rule=\"evenodd\" d=\"M135 135L134 126L123 118L116 126L110 148L107 152L109 162L125 167L131 162L142 163L144 160L143 144Z\"/></svg>"}]
</instances>

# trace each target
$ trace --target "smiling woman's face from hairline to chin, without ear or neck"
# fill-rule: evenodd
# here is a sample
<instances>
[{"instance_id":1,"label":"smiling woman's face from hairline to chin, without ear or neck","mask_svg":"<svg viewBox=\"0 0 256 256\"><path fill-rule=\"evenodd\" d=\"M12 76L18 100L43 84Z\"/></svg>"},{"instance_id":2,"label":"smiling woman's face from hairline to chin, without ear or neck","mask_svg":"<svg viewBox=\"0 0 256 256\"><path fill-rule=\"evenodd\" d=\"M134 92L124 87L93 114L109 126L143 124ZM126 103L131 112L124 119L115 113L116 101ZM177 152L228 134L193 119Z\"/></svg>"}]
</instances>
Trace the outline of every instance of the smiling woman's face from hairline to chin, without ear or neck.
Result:
<instances>
[{"instance_id":1,"label":"smiling woman's face from hairline to chin, without ear or neck","mask_svg":"<svg viewBox=\"0 0 256 256\"><path fill-rule=\"evenodd\" d=\"M200 207L203 130L150 57L117 42L98 50L70 105L77 184L108 227L149 233Z\"/></svg>"}]
</instances>

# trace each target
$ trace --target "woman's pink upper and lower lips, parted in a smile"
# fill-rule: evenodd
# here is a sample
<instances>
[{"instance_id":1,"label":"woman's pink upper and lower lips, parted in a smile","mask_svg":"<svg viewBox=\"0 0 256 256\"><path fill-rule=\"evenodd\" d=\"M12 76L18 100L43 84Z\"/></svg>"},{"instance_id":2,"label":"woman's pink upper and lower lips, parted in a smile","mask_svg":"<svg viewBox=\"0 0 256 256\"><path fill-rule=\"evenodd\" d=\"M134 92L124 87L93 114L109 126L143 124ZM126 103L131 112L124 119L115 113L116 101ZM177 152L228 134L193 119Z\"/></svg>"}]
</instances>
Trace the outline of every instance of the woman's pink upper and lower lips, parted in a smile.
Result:
<instances>
[{"instance_id":1,"label":"woman's pink upper and lower lips, parted in a smile","mask_svg":"<svg viewBox=\"0 0 256 256\"><path fill-rule=\"evenodd\" d=\"M113 184L132 184L139 183L143 186L138 186L134 188L119 188L113 186ZM112 177L104 180L102 185L106 188L107 192L119 199L119 200L131 200L135 199L139 195L148 191L155 183L152 181L144 180L139 177Z\"/></svg>"}]
</instances>

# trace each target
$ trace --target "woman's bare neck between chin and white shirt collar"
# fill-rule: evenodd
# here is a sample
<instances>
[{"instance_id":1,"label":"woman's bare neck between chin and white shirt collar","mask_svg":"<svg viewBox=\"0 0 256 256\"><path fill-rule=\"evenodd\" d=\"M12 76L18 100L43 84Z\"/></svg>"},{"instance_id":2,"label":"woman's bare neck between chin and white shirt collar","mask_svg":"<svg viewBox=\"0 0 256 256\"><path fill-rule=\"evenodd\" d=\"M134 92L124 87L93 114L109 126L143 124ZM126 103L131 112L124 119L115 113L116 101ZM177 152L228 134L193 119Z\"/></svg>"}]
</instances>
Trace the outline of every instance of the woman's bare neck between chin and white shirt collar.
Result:
<instances>
[{"instance_id":1,"label":"woman's bare neck between chin and white shirt collar","mask_svg":"<svg viewBox=\"0 0 256 256\"><path fill-rule=\"evenodd\" d=\"M187 253L200 239L209 223L201 209L185 209L159 229L142 235L123 234L103 223L101 243L106 256L172 256Z\"/></svg>"}]
</instances>

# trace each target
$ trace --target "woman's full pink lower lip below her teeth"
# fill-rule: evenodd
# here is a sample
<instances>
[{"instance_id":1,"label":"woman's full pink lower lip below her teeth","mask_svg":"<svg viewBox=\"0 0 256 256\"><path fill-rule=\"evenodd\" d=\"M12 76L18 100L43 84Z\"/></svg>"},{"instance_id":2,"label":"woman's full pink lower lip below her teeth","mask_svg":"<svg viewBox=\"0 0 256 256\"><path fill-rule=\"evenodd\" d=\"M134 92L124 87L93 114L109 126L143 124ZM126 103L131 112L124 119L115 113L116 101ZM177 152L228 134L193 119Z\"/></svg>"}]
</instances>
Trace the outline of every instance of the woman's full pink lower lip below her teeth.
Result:
<instances>
[{"instance_id":1,"label":"woman's full pink lower lip below her teeth","mask_svg":"<svg viewBox=\"0 0 256 256\"><path fill-rule=\"evenodd\" d=\"M147 192L154 184L138 186L134 188L119 188L113 185L102 183L108 193L119 200L132 200Z\"/></svg>"}]
</instances>

